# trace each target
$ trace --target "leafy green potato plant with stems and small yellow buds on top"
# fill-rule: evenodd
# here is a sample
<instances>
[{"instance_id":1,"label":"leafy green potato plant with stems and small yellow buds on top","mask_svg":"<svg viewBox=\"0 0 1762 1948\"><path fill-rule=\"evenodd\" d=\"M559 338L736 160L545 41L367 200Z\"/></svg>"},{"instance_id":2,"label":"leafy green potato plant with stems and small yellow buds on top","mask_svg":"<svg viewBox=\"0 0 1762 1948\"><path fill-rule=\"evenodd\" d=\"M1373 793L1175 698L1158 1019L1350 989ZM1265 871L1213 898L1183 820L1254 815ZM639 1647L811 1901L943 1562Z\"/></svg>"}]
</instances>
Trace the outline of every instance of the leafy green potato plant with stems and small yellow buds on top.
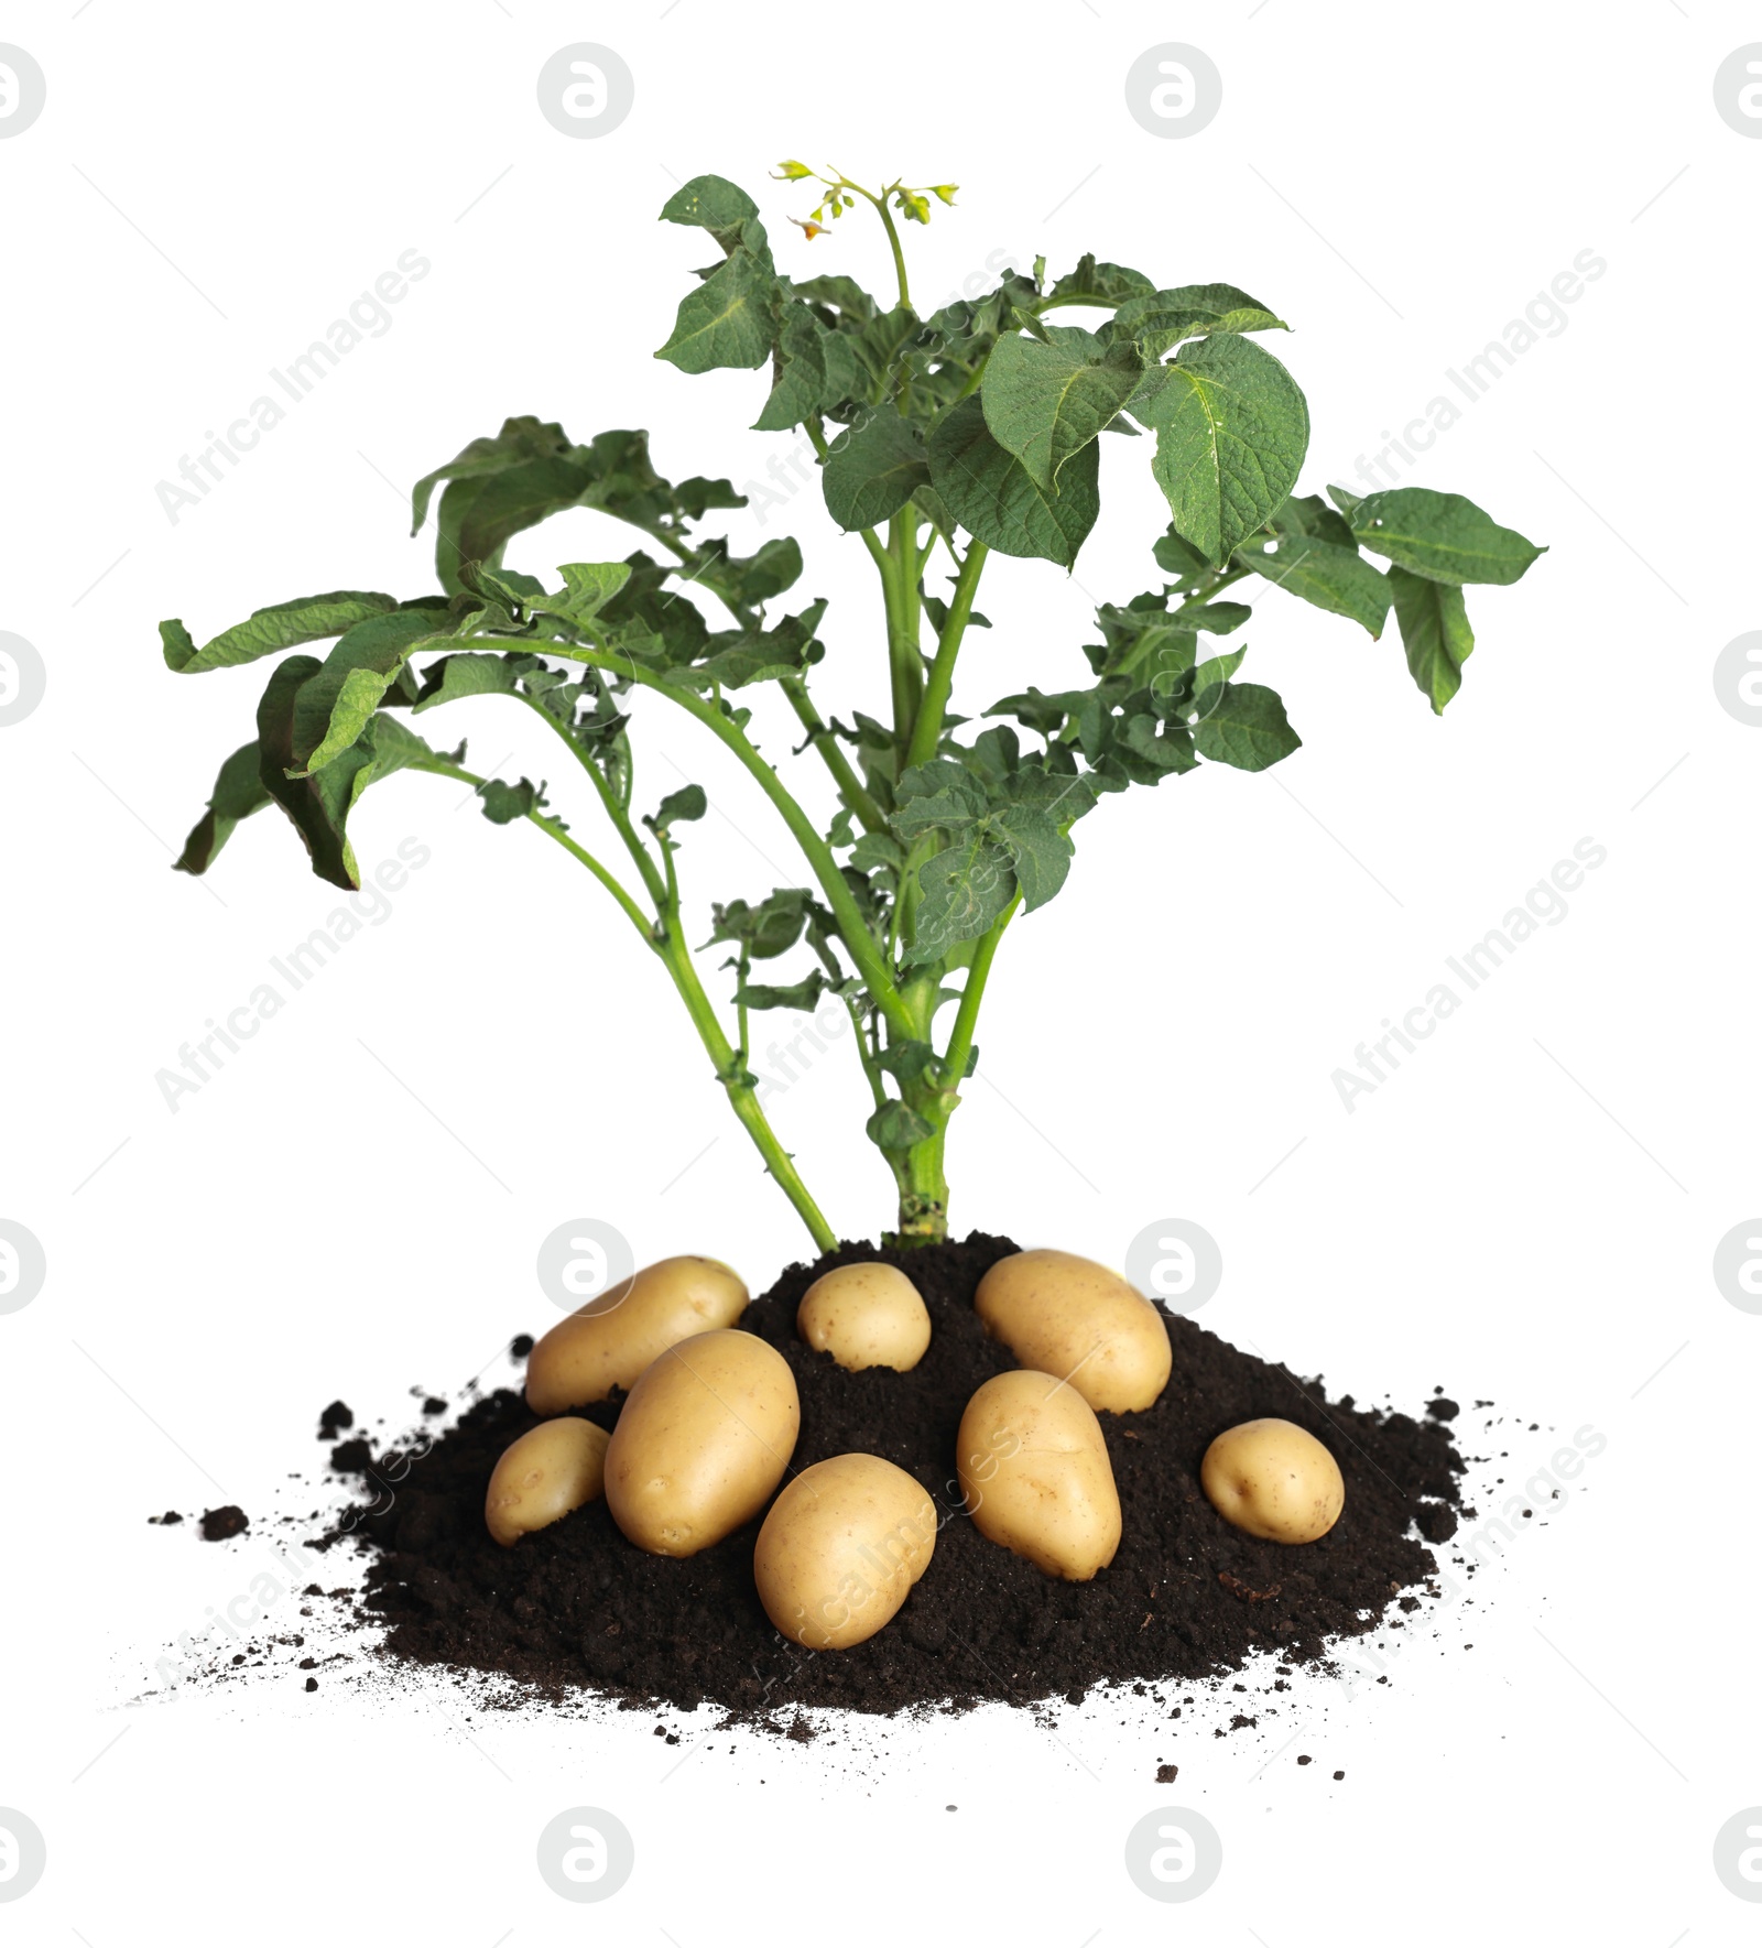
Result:
<instances>
[{"instance_id":1,"label":"leafy green potato plant with stems and small yellow buds on top","mask_svg":"<svg viewBox=\"0 0 1762 1948\"><path fill-rule=\"evenodd\" d=\"M661 216L708 232L717 255L655 356L686 374L764 370L754 429L801 427L813 442L826 512L873 561L887 713L828 703L862 633L834 635L824 602L789 600L793 538L737 555L704 532L745 505L729 481L663 477L643 432L583 444L552 421L509 419L415 487L417 530L435 512L439 592L302 596L201 645L181 621L160 625L179 674L335 639L275 664L257 734L220 768L177 863L205 873L242 818L277 805L314 871L355 886L349 816L368 785L419 771L474 787L485 818L536 828L635 927L823 1249L834 1235L760 1106L748 1027L826 995L846 1007L867 1134L899 1194L891 1237L932 1243L947 1231L947 1132L978 1062L986 984L1017 916L1064 884L1080 820L1111 793L1205 762L1259 771L1298 746L1279 695L1238 680L1244 596L1267 584L1372 637L1394 612L1407 668L1442 711L1474 649L1464 584L1514 582L1540 549L1427 487L1298 493L1308 409L1263 343L1288 327L1230 284L1164 286L1095 257L1049 277L1037 259L922 318L902 226L928 222L953 187L871 191L799 162L780 175L817 185L807 249L836 218L871 210L897 290L881 300L844 275L785 275L752 199L700 175ZM1099 514L1103 434L1136 436L1115 460L1148 462L1169 505L1152 586L1099 606L1070 690L963 692L955 715L961 647L988 627L982 577L998 555L1029 575L1072 567ZM517 534L575 506L628 522L641 543L546 579L503 565ZM764 684L799 719L793 752L760 746L748 699ZM415 727L481 697L550 727L604 842L591 849L542 783L481 777L464 744L446 750ZM688 937L680 892L682 834L706 797L686 785L643 808L633 752L649 707L684 711L733 752L801 855L799 884L717 902L708 943ZM785 781L813 768L836 799L830 820ZM719 997L706 949L733 976Z\"/></svg>"}]
</instances>

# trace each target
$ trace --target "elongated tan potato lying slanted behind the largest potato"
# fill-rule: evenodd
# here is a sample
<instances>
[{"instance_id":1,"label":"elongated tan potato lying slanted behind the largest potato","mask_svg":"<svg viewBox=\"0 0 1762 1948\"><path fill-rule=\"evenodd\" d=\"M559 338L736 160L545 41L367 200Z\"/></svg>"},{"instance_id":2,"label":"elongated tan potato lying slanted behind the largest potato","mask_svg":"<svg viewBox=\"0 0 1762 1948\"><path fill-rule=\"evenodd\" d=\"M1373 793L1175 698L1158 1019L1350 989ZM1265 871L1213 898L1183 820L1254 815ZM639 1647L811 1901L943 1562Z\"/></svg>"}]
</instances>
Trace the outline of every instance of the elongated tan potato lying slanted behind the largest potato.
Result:
<instances>
[{"instance_id":1,"label":"elongated tan potato lying slanted behind the largest potato","mask_svg":"<svg viewBox=\"0 0 1762 1948\"><path fill-rule=\"evenodd\" d=\"M626 1393L669 1346L731 1327L747 1311L747 1286L721 1258L661 1258L557 1321L526 1362L534 1414Z\"/></svg>"}]
</instances>

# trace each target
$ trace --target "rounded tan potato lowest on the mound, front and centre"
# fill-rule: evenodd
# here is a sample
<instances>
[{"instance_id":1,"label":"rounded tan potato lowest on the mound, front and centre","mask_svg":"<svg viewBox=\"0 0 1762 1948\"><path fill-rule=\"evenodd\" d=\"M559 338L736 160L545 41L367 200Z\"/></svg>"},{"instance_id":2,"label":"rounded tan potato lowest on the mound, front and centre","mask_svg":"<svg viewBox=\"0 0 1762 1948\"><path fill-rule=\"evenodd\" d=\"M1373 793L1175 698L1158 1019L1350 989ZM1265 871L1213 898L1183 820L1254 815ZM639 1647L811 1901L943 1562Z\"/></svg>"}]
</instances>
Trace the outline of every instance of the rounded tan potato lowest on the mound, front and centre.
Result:
<instances>
[{"instance_id":1,"label":"rounded tan potato lowest on the mound, front and centre","mask_svg":"<svg viewBox=\"0 0 1762 1948\"><path fill-rule=\"evenodd\" d=\"M936 1504L881 1455L815 1461L772 1502L752 1576L764 1613L807 1650L891 1623L936 1549Z\"/></svg>"}]
</instances>

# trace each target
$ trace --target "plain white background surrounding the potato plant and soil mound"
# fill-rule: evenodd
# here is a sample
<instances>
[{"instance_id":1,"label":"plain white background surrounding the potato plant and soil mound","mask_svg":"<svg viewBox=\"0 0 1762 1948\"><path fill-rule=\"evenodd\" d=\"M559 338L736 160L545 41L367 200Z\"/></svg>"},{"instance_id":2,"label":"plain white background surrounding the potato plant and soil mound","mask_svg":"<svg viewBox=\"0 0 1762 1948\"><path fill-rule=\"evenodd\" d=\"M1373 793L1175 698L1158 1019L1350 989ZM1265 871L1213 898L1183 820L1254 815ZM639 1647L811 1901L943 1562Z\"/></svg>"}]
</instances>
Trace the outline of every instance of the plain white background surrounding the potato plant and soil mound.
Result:
<instances>
[{"instance_id":1,"label":"plain white background surrounding the potato plant and soil mound","mask_svg":"<svg viewBox=\"0 0 1762 1948\"><path fill-rule=\"evenodd\" d=\"M49 664L43 707L0 730L0 1216L49 1255L41 1297L0 1317L0 1806L51 1860L12 1938L881 1942L932 1925L932 1890L938 1932L959 1917L1053 1948L1175 1925L1343 1940L1372 1890L1446 1942L1514 1923L1657 1948L1752 1936L1711 1843L1762 1802L1762 1321L1709 1266L1762 1208L1762 730L1719 707L1711 668L1758 625L1762 142L1715 115L1711 82L1756 35L1754 10L1717 0L0 16L49 78L41 121L0 142L0 627ZM581 39L635 74L602 140L536 109L538 68ZM1166 39L1224 76L1191 140L1125 109L1129 64ZM287 1652L255 1685L131 1704L269 1566L261 1537L205 1549L146 1514L222 1488L304 1514L316 1496L283 1477L318 1457L335 1393L402 1422L411 1385L456 1387L542 1330L532 1260L554 1225L604 1218L639 1260L719 1253L754 1288L803 1249L659 968L536 834L433 779L355 820L364 865L405 838L433 851L394 916L175 1116L154 1085L335 906L271 814L212 892L168 871L259 686L173 678L156 621L205 639L314 588L423 590L429 538L405 538L402 495L513 411L577 438L645 425L676 477L760 475L791 444L743 431L762 376L649 356L706 249L655 212L713 169L760 195L785 271L885 286L858 216L811 247L789 230L811 201L764 181L784 154L961 183L959 210L908 236L926 310L992 251L1056 271L1093 249L1263 296L1296 325L1279 349L1314 415L1306 489L1351 481L1577 253L1606 259L1565 329L1403 473L1550 543L1520 586L1472 592L1479 649L1448 717L1394 631L1370 643L1267 592L1247 674L1283 692L1304 750L1080 828L1068 890L1006 947L953 1143L961 1229L1119 1262L1144 1225L1197 1219L1226 1260L1203 1317L1238 1344L1360 1399L1493 1399L1513 1418L1466 1424L1470 1445L1509 1449L1518 1479L1553 1426L1594 1426L1606 1453L1386 1687L1310 1683L1253 1738L1210 1736L1228 1693L1168 1728L1093 1701L1056 1736L1008 1712L807 1747L688 1728L692 1763L663 1780L686 1747L645 1714L468 1722L462 1693L343 1667L308 1697ZM411 247L433 273L392 327L172 524L156 481ZM1109 442L1103 473L1074 581L996 563L957 705L1082 680L1093 600L1154 579L1144 450ZM801 594L832 598L823 701L875 707L867 563L817 493L791 524ZM743 549L778 528L731 518ZM571 514L511 559L630 545ZM540 727L466 709L440 729L485 766L557 773ZM756 793L653 717L639 795L684 769L715 806L686 851L698 918L793 882ZM1331 1071L1587 836L1608 861L1569 918L1347 1114ZM848 1056L776 1099L846 1235L887 1221L862 1112ZM1179 1761L1175 1788L1158 1759ZM532 1864L579 1804L635 1835L635 1876L594 1909ZM1224 1845L1183 1909L1121 1860L1164 1804Z\"/></svg>"}]
</instances>

